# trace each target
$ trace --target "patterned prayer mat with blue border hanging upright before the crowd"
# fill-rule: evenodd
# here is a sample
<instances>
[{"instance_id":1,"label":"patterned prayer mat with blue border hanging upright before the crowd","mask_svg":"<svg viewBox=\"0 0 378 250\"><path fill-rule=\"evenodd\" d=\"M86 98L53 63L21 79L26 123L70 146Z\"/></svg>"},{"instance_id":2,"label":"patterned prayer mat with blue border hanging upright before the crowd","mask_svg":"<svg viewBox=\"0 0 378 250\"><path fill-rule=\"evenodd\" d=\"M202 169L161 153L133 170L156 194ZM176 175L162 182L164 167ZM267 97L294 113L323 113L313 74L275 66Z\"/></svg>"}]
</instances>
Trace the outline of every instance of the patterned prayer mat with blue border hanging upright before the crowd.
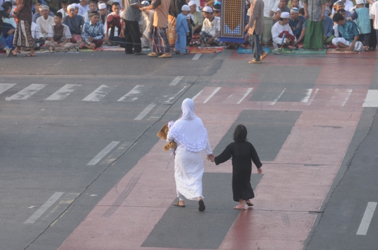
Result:
<instances>
[{"instance_id":1,"label":"patterned prayer mat with blue border hanging upright before the crowd","mask_svg":"<svg viewBox=\"0 0 378 250\"><path fill-rule=\"evenodd\" d=\"M246 1L222 1L221 13L221 35L219 41L223 43L244 43Z\"/></svg>"}]
</instances>

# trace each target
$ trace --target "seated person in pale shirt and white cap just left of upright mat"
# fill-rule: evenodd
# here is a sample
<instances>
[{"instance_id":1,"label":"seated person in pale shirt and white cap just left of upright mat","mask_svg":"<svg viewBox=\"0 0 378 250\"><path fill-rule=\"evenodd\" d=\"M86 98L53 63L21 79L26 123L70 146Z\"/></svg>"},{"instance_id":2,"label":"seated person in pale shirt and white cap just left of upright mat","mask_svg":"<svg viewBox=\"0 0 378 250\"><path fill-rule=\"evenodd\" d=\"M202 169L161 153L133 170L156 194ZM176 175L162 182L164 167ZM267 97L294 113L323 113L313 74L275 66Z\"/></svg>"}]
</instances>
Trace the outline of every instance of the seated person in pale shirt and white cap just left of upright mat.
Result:
<instances>
[{"instance_id":1,"label":"seated person in pale shirt and white cap just left of upright mat","mask_svg":"<svg viewBox=\"0 0 378 250\"><path fill-rule=\"evenodd\" d=\"M200 43L207 46L221 46L223 43L219 41L221 34L221 18L213 14L213 9L206 6L202 9L202 14L205 17L202 24L202 31L200 32Z\"/></svg>"}]
</instances>

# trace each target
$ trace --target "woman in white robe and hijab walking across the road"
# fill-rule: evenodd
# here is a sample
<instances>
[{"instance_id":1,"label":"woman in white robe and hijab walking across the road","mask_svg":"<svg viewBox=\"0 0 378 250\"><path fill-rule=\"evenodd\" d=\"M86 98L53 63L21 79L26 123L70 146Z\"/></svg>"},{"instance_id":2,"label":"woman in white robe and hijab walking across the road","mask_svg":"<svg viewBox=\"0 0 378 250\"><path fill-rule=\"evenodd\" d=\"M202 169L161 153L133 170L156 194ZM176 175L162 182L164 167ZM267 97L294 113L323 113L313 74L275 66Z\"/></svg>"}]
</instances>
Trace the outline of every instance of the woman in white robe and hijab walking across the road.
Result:
<instances>
[{"instance_id":1,"label":"woman in white robe and hijab walking across the road","mask_svg":"<svg viewBox=\"0 0 378 250\"><path fill-rule=\"evenodd\" d=\"M179 201L174 203L178 207L185 207L184 198L197 200L198 209L204 211L202 198L202 175L204 174L204 161L202 151L207 159L214 156L211 151L207 130L202 120L195 115L195 105L192 99L186 98L181 105L183 116L169 128L167 141L177 142L176 156L174 158L174 178Z\"/></svg>"}]
</instances>

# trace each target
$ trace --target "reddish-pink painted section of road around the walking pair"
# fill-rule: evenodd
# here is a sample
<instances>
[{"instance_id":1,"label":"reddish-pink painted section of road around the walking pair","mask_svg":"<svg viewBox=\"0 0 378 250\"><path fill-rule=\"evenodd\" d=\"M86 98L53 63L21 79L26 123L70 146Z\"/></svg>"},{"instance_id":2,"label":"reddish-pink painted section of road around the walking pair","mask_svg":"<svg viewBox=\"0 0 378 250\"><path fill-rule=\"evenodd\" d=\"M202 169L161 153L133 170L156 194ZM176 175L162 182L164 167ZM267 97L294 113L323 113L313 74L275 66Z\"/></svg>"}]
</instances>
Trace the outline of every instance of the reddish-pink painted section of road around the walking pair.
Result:
<instances>
[{"instance_id":1,"label":"reddish-pink painted section of road around the walking pair","mask_svg":"<svg viewBox=\"0 0 378 250\"><path fill-rule=\"evenodd\" d=\"M213 148L242 110L302 111L276 159L263 162L265 175L255 190L255 206L240 212L219 249L302 249L316 218L310 212L321 207L344 159L374 71L375 59L331 56L311 59L269 55L260 73L255 68L251 70L251 79L258 80L242 87L219 86L222 88L207 103L204 101L216 87L204 87L195 99L196 113L207 126ZM246 55L231 57L246 59ZM344 65L337 68L337 73L348 76L343 80L330 70L339 61ZM307 103L272 105L272 102L248 101L269 67L293 64L322 67ZM353 68L358 68L361 75L354 70L350 73L352 64L359 65ZM237 104L251 87L253 91ZM164 142L158 142L140 159L71 233L60 250L162 249L141 247L141 244L176 198L173 160L169 153L162 151L163 145ZM205 171L231 172L230 162L216 167L205 161ZM123 198L127 192L128 196Z\"/></svg>"}]
</instances>

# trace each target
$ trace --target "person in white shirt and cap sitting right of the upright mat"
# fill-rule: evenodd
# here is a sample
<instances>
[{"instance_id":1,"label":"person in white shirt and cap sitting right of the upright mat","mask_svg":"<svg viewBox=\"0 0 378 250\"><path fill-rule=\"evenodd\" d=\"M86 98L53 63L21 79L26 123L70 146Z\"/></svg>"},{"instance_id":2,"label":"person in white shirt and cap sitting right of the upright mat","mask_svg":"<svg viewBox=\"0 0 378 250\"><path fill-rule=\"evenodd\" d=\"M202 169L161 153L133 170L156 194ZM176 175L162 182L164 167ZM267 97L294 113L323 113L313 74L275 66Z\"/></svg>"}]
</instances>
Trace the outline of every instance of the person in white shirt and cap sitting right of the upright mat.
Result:
<instances>
[{"instance_id":1,"label":"person in white shirt and cap sitting right of the upright mat","mask_svg":"<svg viewBox=\"0 0 378 250\"><path fill-rule=\"evenodd\" d=\"M286 45L293 44L297 41L297 38L293 35L293 31L288 24L290 22L290 13L283 12L279 18L279 22L276 22L272 27L273 46L276 50L278 47L284 47Z\"/></svg>"}]
</instances>

